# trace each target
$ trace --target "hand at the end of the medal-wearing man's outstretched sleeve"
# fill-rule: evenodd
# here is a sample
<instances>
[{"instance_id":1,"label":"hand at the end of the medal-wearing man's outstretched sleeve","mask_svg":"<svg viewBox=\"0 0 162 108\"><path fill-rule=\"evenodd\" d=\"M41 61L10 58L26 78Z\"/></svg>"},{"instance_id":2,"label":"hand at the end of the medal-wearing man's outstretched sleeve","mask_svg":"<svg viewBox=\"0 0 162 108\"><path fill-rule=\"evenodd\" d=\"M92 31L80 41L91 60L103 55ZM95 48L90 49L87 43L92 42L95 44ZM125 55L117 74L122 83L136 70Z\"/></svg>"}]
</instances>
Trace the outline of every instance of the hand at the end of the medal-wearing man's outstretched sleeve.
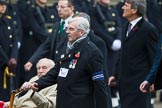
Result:
<instances>
[{"instance_id":1,"label":"hand at the end of the medal-wearing man's outstretched sleeve","mask_svg":"<svg viewBox=\"0 0 162 108\"><path fill-rule=\"evenodd\" d=\"M23 90L29 90L29 89L32 89L34 91L37 91L38 90L38 84L35 83L35 82L25 82L22 86L21 86L21 89Z\"/></svg>"}]
</instances>

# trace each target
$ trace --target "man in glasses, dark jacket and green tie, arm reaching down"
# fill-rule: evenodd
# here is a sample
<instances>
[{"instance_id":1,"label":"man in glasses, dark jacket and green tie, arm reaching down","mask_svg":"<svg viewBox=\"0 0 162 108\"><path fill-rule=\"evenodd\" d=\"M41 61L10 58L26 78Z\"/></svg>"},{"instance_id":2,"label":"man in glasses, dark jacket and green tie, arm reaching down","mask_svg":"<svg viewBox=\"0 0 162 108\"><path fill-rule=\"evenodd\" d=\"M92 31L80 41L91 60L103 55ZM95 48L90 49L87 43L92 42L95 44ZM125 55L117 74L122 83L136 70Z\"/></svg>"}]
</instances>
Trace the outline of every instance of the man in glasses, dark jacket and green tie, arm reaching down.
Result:
<instances>
[{"instance_id":1,"label":"man in glasses, dark jacket and green tie, arm reaching down","mask_svg":"<svg viewBox=\"0 0 162 108\"><path fill-rule=\"evenodd\" d=\"M42 57L51 58L55 62L61 59L67 42L64 29L74 14L73 0L59 0L57 10L61 21L54 24L51 36L37 49L29 62L24 65L26 70L30 70L32 65Z\"/></svg>"}]
</instances>

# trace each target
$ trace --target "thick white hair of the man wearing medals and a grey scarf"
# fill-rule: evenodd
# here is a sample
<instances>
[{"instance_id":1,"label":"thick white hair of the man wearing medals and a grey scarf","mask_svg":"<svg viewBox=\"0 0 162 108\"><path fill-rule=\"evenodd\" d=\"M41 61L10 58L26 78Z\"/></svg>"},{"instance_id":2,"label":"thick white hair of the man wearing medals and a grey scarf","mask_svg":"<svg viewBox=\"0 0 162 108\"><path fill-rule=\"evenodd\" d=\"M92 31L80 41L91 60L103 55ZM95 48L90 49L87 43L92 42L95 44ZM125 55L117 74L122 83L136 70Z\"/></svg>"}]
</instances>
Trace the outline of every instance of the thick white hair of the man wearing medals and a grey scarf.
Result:
<instances>
[{"instance_id":1,"label":"thick white hair of the man wearing medals and a grey scarf","mask_svg":"<svg viewBox=\"0 0 162 108\"><path fill-rule=\"evenodd\" d=\"M83 17L74 17L74 18L70 19L68 23L75 22L75 21L77 22L78 30L83 30L83 31L85 31L85 33L89 32L90 24L87 19L85 19Z\"/></svg>"}]
</instances>

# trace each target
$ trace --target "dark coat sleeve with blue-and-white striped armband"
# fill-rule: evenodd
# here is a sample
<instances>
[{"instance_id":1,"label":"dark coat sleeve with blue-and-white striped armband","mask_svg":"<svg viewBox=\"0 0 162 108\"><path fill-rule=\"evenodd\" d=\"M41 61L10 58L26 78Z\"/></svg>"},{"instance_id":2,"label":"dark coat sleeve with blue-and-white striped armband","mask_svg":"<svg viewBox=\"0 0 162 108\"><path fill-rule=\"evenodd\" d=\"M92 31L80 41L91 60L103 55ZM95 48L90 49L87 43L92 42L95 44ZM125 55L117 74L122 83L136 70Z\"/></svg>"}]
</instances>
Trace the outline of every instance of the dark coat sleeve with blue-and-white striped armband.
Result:
<instances>
[{"instance_id":1,"label":"dark coat sleeve with blue-and-white striped armband","mask_svg":"<svg viewBox=\"0 0 162 108\"><path fill-rule=\"evenodd\" d=\"M92 74L96 108L108 108L107 84L103 71L103 56L99 51L93 51L90 54L88 64Z\"/></svg>"}]
</instances>

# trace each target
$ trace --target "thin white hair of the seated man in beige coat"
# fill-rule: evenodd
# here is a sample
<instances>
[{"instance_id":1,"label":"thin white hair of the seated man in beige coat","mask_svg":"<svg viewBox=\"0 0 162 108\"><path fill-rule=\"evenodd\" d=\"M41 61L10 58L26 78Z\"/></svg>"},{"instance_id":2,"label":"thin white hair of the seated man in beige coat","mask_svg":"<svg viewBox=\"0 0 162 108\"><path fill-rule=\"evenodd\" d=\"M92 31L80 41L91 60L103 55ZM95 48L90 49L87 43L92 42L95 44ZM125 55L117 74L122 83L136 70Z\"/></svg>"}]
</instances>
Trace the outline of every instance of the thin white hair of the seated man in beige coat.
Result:
<instances>
[{"instance_id":1,"label":"thin white hair of the seated man in beige coat","mask_svg":"<svg viewBox=\"0 0 162 108\"><path fill-rule=\"evenodd\" d=\"M42 58L42 59L40 59L40 60L37 62L37 64L36 64L36 67L37 67L37 68L38 68L39 63L41 63L41 62L47 63L47 65L48 65L48 67L49 67L50 69L53 68L53 67L55 66L55 63L54 63L53 60L48 59L48 58Z\"/></svg>"}]
</instances>

